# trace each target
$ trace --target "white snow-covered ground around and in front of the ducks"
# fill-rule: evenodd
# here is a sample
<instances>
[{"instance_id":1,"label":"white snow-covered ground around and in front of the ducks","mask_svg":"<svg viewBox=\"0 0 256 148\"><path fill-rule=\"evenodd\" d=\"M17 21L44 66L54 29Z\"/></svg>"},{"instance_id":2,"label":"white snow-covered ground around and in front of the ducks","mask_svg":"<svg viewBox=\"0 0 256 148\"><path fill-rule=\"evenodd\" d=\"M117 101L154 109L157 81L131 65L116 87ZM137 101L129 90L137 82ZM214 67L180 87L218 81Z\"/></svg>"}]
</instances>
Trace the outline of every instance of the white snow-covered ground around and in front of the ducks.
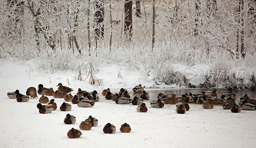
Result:
<instances>
[{"instance_id":1,"label":"white snow-covered ground around and in front of the ducks","mask_svg":"<svg viewBox=\"0 0 256 148\"><path fill-rule=\"evenodd\" d=\"M124 81L116 76L110 77L111 74L108 73L103 80L105 86L91 86L87 80L74 81L75 74L71 72L46 76L30 72L28 77L25 66L5 62L0 65L0 147L58 148L84 147L85 144L85 147L255 147L256 111L235 114L221 106L207 110L202 105L190 104L190 110L181 115L175 112L175 105L165 105L161 109L150 107L149 101L156 99L154 93L150 100L145 101L148 112L139 113L136 111L137 106L118 105L101 95L102 90L108 86L111 92L116 93L120 87L131 90L132 86L138 84L132 81L136 77L131 72L124 71L124 74L127 77L132 75L130 81L127 77ZM103 75L104 73L99 77ZM67 78L70 85L65 82ZM38 99L19 103L6 96L7 92L16 89L25 94L28 87L37 88L40 83L53 90L57 89L58 83L62 83L74 89L72 95L76 94L78 88L97 90L100 101L92 108L82 108L71 103L71 111L62 112L59 107L64 99L55 99L57 110L51 114L39 114L36 108ZM140 80L140 83L144 82ZM48 98L50 100L53 97ZM76 116L75 124L64 124L63 120L68 113ZM79 139L69 139L68 130L79 129L80 122L89 115L99 120L98 126L89 131L81 130L83 135ZM108 122L116 126L116 133L103 133L102 129ZM124 122L130 124L130 133L120 132L119 128Z\"/></svg>"}]
</instances>

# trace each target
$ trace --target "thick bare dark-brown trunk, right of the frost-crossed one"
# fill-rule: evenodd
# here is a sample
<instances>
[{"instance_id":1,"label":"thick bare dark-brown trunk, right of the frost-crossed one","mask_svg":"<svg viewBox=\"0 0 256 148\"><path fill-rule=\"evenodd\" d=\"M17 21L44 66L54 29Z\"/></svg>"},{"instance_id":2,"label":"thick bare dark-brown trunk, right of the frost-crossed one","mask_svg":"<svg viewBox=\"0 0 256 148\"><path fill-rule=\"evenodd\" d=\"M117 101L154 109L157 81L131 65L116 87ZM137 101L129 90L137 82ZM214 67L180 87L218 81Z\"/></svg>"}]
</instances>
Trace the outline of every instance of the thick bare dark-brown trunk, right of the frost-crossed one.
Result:
<instances>
[{"instance_id":1,"label":"thick bare dark-brown trunk, right of the frost-crossed one","mask_svg":"<svg viewBox=\"0 0 256 148\"><path fill-rule=\"evenodd\" d=\"M124 34L132 39L132 0L125 0L124 3Z\"/></svg>"}]
</instances>

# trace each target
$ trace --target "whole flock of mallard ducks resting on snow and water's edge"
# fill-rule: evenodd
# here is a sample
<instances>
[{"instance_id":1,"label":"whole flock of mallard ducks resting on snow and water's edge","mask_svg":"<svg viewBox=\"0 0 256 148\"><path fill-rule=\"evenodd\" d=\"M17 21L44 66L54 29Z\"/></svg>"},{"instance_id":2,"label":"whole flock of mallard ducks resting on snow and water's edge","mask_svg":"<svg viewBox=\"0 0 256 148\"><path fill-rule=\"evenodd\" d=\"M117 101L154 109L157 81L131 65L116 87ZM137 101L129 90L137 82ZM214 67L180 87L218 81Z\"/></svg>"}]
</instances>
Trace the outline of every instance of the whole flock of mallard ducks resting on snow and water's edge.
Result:
<instances>
[{"instance_id":1,"label":"whole flock of mallard ducks resting on snow and water's edge","mask_svg":"<svg viewBox=\"0 0 256 148\"><path fill-rule=\"evenodd\" d=\"M80 88L76 95L72 96L70 92L73 89L63 86L59 83L57 86L58 90L55 92L52 88L45 88L42 84L38 85L38 90L36 91L35 87L29 87L26 91L26 95L23 95L16 90L15 92L7 93L7 96L10 99L16 99L18 102L27 102L31 98L37 98L37 93L42 95L39 99L39 103L36 105L39 109L39 113L47 114L52 113L53 110L57 109L57 104L54 102L54 99L49 101L47 96L53 96L54 98L64 98L66 102L71 102L72 104L77 104L78 107L93 107L95 102L99 101L98 92L94 90L93 92L83 91ZM121 88L119 93L111 93L110 89L105 89L102 91L102 95L105 96L107 100L113 100L116 104L130 104L138 105L136 110L138 112L147 112L148 108L143 102L144 100L149 99L149 94L144 90L141 85L135 86L133 89L136 95L131 99L130 94L126 89ZM175 94L164 94L158 93L157 100L151 101L150 105L154 108L162 108L164 104L177 104L176 113L185 114L186 111L190 109L189 103L203 104L203 108L212 109L213 105L222 105L224 109L230 109L233 113L239 113L241 110L256 110L256 100L251 99L247 94L244 94L244 97L240 98L239 104L235 103L236 95L233 93L231 87L222 88L218 90L221 93L221 97L217 98L217 91L213 89L212 91L202 91L201 93L185 93L181 96ZM69 103L63 102L60 106L61 111L70 111L71 105ZM45 104L45 105L42 105ZM64 123L65 124L74 124L76 122L76 117L74 115L67 114ZM92 117L91 115L82 121L79 125L79 128L82 130L90 130L92 127L98 125L98 119ZM130 132L131 127L129 124L124 123L120 128L121 132ZM115 133L116 127L113 124L107 123L103 128L104 133ZM81 131L77 129L70 129L67 136L69 138L78 138L82 135Z\"/></svg>"}]
</instances>

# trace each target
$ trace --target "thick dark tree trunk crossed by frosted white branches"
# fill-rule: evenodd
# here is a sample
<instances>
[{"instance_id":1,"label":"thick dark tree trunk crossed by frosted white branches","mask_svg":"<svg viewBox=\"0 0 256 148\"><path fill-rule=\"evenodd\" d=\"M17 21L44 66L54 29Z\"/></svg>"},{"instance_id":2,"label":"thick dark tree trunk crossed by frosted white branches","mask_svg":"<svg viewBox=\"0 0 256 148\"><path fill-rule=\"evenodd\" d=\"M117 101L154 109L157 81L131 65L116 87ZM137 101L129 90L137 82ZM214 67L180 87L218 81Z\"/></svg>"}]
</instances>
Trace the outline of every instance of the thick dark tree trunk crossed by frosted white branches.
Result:
<instances>
[{"instance_id":1,"label":"thick dark tree trunk crossed by frosted white branches","mask_svg":"<svg viewBox=\"0 0 256 148\"><path fill-rule=\"evenodd\" d=\"M103 38L104 36L104 0L96 0L96 12L95 12L95 35L96 39Z\"/></svg>"}]
</instances>

